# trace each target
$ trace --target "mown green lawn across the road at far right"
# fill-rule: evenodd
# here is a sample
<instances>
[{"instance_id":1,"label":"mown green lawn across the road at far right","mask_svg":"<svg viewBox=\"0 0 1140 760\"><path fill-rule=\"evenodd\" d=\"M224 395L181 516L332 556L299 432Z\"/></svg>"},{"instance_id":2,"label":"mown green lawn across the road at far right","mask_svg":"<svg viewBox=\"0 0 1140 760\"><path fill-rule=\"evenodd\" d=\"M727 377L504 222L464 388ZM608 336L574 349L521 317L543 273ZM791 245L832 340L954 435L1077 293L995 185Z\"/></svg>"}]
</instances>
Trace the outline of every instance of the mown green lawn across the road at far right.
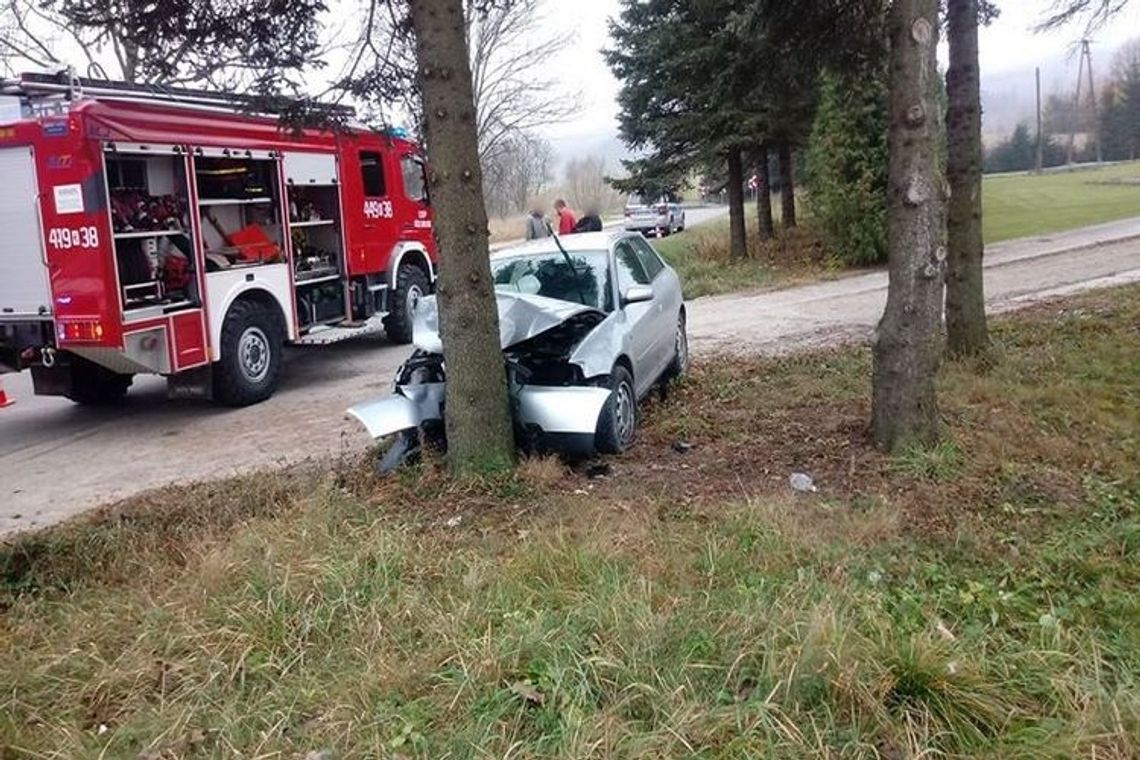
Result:
<instances>
[{"instance_id":1,"label":"mown green lawn across the road at far right","mask_svg":"<svg viewBox=\"0 0 1140 760\"><path fill-rule=\"evenodd\" d=\"M1140 216L1140 163L986 177L983 204L987 243Z\"/></svg>"}]
</instances>

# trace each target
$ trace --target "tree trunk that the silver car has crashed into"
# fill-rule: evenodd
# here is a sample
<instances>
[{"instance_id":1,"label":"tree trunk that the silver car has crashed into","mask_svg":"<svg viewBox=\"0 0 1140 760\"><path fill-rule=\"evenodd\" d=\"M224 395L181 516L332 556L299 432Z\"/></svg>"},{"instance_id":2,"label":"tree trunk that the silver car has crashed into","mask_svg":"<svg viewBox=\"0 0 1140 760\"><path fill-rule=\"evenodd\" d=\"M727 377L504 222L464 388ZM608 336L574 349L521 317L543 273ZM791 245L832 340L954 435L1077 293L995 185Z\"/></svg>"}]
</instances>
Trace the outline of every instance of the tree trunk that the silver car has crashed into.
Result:
<instances>
[{"instance_id":1,"label":"tree trunk that the silver car has crashed into","mask_svg":"<svg viewBox=\"0 0 1140 760\"><path fill-rule=\"evenodd\" d=\"M463 0L413 0L439 268L447 366L448 467L478 474L510 467L514 430L488 258L487 212Z\"/></svg>"}]
</instances>

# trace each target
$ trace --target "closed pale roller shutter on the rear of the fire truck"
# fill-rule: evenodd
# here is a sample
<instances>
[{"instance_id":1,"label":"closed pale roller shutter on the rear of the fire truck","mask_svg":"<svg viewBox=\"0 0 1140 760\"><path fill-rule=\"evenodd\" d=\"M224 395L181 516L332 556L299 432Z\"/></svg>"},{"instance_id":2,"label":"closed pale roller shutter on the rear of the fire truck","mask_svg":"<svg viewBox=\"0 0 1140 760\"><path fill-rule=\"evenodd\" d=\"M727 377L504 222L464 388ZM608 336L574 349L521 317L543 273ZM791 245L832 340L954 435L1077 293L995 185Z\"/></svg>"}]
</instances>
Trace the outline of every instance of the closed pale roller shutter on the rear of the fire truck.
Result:
<instances>
[{"instance_id":1,"label":"closed pale roller shutter on the rear of the fire truck","mask_svg":"<svg viewBox=\"0 0 1140 760\"><path fill-rule=\"evenodd\" d=\"M51 313L51 289L32 148L0 148L0 321L44 318Z\"/></svg>"}]
</instances>

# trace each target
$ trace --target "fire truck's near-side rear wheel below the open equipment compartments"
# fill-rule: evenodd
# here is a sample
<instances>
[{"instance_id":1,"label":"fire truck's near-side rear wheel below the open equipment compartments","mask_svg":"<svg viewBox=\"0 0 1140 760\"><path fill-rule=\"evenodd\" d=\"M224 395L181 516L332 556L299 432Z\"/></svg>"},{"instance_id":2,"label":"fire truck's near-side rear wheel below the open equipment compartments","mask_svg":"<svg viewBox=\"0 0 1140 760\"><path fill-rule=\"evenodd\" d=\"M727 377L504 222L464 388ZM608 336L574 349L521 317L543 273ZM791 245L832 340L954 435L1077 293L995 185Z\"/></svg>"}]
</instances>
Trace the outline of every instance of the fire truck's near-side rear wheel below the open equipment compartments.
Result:
<instances>
[{"instance_id":1,"label":"fire truck's near-side rear wheel below the open equipment compartments","mask_svg":"<svg viewBox=\"0 0 1140 760\"><path fill-rule=\"evenodd\" d=\"M213 397L230 407L264 401L280 382L285 327L275 309L236 301L221 326L221 359L213 366Z\"/></svg>"}]
</instances>

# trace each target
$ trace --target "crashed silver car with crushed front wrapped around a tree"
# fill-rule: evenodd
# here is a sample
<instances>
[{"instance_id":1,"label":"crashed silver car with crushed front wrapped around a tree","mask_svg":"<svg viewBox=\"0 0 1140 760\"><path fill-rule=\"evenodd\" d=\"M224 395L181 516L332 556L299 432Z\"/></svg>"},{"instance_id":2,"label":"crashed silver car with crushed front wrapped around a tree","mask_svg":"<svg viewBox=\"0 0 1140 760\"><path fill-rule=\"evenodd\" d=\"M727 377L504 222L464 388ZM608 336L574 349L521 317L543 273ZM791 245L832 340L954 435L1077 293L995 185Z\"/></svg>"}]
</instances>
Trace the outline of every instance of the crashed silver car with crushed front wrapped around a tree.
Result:
<instances>
[{"instance_id":1,"label":"crashed silver car with crushed front wrapped around a tree","mask_svg":"<svg viewBox=\"0 0 1140 760\"><path fill-rule=\"evenodd\" d=\"M491 272L520 446L575 455L628 448L638 401L689 366L676 272L630 232L532 240L494 254ZM442 436L434 296L416 307L413 343L394 392L349 409L373 438L400 434L382 469L415 448L417 431Z\"/></svg>"}]
</instances>

